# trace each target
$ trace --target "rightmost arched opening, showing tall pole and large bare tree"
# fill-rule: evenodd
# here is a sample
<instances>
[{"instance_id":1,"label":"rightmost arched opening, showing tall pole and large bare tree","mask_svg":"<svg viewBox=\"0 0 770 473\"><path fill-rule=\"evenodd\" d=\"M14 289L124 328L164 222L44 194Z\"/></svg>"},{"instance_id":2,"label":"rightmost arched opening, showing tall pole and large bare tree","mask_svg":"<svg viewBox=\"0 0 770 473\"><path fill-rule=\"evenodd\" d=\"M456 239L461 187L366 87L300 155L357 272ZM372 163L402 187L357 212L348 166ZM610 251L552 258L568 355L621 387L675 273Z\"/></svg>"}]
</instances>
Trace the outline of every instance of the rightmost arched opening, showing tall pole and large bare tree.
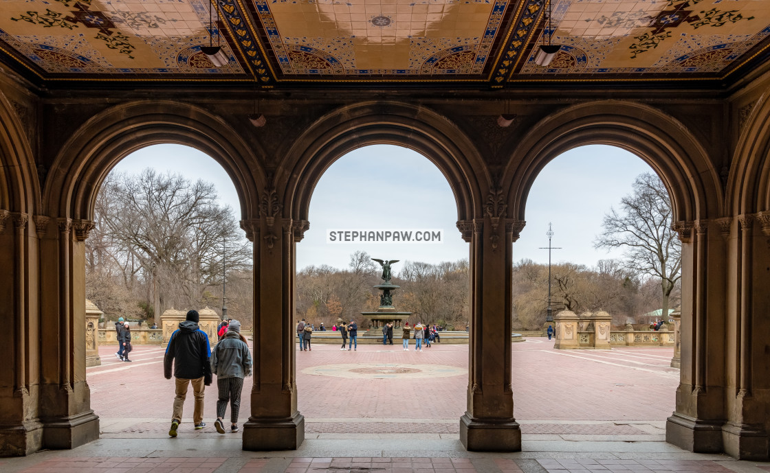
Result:
<instances>
[{"instance_id":1,"label":"rightmost arched opening, showing tall pole and large bare tree","mask_svg":"<svg viewBox=\"0 0 770 473\"><path fill-rule=\"evenodd\" d=\"M513 355L522 434L662 438L676 409L681 305L668 192L638 155L583 145L549 160L526 202L512 304L514 331L529 335ZM649 254L654 248L660 258ZM661 275L671 285L664 303ZM658 321L666 323L651 328Z\"/></svg>"}]
</instances>

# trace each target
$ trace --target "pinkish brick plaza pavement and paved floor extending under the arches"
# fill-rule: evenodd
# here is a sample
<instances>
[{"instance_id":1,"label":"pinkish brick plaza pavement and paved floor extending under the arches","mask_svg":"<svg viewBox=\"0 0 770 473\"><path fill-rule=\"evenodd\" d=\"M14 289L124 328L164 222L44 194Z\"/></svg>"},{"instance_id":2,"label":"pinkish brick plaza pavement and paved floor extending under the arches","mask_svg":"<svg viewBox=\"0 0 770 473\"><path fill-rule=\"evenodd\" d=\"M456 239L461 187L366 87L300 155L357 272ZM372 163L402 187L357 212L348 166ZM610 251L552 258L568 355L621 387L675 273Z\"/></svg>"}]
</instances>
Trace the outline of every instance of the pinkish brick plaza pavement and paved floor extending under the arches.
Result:
<instances>
[{"instance_id":1,"label":"pinkish brick plaza pavement and paved floor extending under the arches","mask_svg":"<svg viewBox=\"0 0 770 473\"><path fill-rule=\"evenodd\" d=\"M102 347L87 370L102 438L72 451L0 458L2 473L764 473L770 465L682 451L665 443L678 370L670 348L557 351L544 338L513 345L514 415L522 451L465 451L467 346L315 345L297 353L306 440L296 451L241 450L241 435L216 434L216 391L206 422L168 437L173 383L163 348L136 347L133 363ZM248 385L248 382L247 382ZM244 390L241 421L248 417Z\"/></svg>"}]
</instances>

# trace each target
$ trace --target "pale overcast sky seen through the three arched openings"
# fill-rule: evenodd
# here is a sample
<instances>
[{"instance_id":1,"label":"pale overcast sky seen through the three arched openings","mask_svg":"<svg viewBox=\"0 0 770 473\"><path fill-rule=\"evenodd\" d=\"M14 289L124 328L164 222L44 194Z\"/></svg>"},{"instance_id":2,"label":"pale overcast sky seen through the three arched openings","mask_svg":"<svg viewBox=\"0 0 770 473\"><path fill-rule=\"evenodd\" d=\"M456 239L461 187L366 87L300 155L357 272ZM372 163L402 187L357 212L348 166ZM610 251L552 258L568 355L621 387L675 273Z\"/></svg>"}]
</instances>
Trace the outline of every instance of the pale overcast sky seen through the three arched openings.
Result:
<instances>
[{"instance_id":1,"label":"pale overcast sky seen through the three arched openings","mask_svg":"<svg viewBox=\"0 0 770 473\"><path fill-rule=\"evenodd\" d=\"M224 169L209 156L181 145L154 145L123 159L114 171L144 168L179 173L213 182L224 205L240 218L238 196ZM514 243L514 261L547 263L546 232L554 229L553 261L593 266L620 251L594 249L601 220L611 206L631 193L634 178L651 168L620 148L591 145L554 159L537 176L527 198L527 226ZM343 156L326 170L310 201L310 230L297 245L297 268L331 265L345 268L353 251L400 261L454 261L468 257L468 244L457 231L457 205L449 184L427 158L406 148L374 145ZM330 244L326 231L336 228L442 229L440 244ZM400 265L394 265L394 271Z\"/></svg>"}]
</instances>

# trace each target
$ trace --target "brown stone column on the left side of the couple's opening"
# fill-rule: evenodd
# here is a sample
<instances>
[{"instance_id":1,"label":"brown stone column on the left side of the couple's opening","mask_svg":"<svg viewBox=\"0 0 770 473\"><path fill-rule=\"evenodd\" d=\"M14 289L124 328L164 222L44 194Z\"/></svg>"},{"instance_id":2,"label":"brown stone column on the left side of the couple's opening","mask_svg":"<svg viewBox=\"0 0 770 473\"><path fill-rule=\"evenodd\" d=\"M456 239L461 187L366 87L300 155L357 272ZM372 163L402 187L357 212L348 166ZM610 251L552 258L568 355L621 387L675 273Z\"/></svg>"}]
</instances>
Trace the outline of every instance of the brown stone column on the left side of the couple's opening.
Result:
<instances>
[{"instance_id":1,"label":"brown stone column on the left side of the couple's opening","mask_svg":"<svg viewBox=\"0 0 770 473\"><path fill-rule=\"evenodd\" d=\"M44 448L75 448L99 438L85 382L85 238L91 222L59 218L41 241L42 398Z\"/></svg>"}]
</instances>

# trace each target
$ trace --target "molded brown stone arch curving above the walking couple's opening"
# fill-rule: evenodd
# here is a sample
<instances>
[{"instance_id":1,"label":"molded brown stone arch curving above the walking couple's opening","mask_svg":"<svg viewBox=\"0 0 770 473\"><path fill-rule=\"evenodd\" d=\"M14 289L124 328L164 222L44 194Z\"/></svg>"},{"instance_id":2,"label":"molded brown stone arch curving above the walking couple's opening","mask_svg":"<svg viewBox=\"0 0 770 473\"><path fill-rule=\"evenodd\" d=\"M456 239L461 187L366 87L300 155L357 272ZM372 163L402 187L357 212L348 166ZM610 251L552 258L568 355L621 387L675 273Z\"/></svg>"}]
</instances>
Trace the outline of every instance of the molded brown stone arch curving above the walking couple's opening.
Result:
<instances>
[{"instance_id":1,"label":"molded brown stone arch curving above the walking couple's opening","mask_svg":"<svg viewBox=\"0 0 770 473\"><path fill-rule=\"evenodd\" d=\"M117 105L81 125L55 158L52 168L62 172L46 183L45 211L89 220L97 190L115 164L139 148L161 143L188 145L219 162L236 187L242 218L257 215L258 189L265 184L261 169L249 165L253 145L222 118L171 101Z\"/></svg>"}]
</instances>

